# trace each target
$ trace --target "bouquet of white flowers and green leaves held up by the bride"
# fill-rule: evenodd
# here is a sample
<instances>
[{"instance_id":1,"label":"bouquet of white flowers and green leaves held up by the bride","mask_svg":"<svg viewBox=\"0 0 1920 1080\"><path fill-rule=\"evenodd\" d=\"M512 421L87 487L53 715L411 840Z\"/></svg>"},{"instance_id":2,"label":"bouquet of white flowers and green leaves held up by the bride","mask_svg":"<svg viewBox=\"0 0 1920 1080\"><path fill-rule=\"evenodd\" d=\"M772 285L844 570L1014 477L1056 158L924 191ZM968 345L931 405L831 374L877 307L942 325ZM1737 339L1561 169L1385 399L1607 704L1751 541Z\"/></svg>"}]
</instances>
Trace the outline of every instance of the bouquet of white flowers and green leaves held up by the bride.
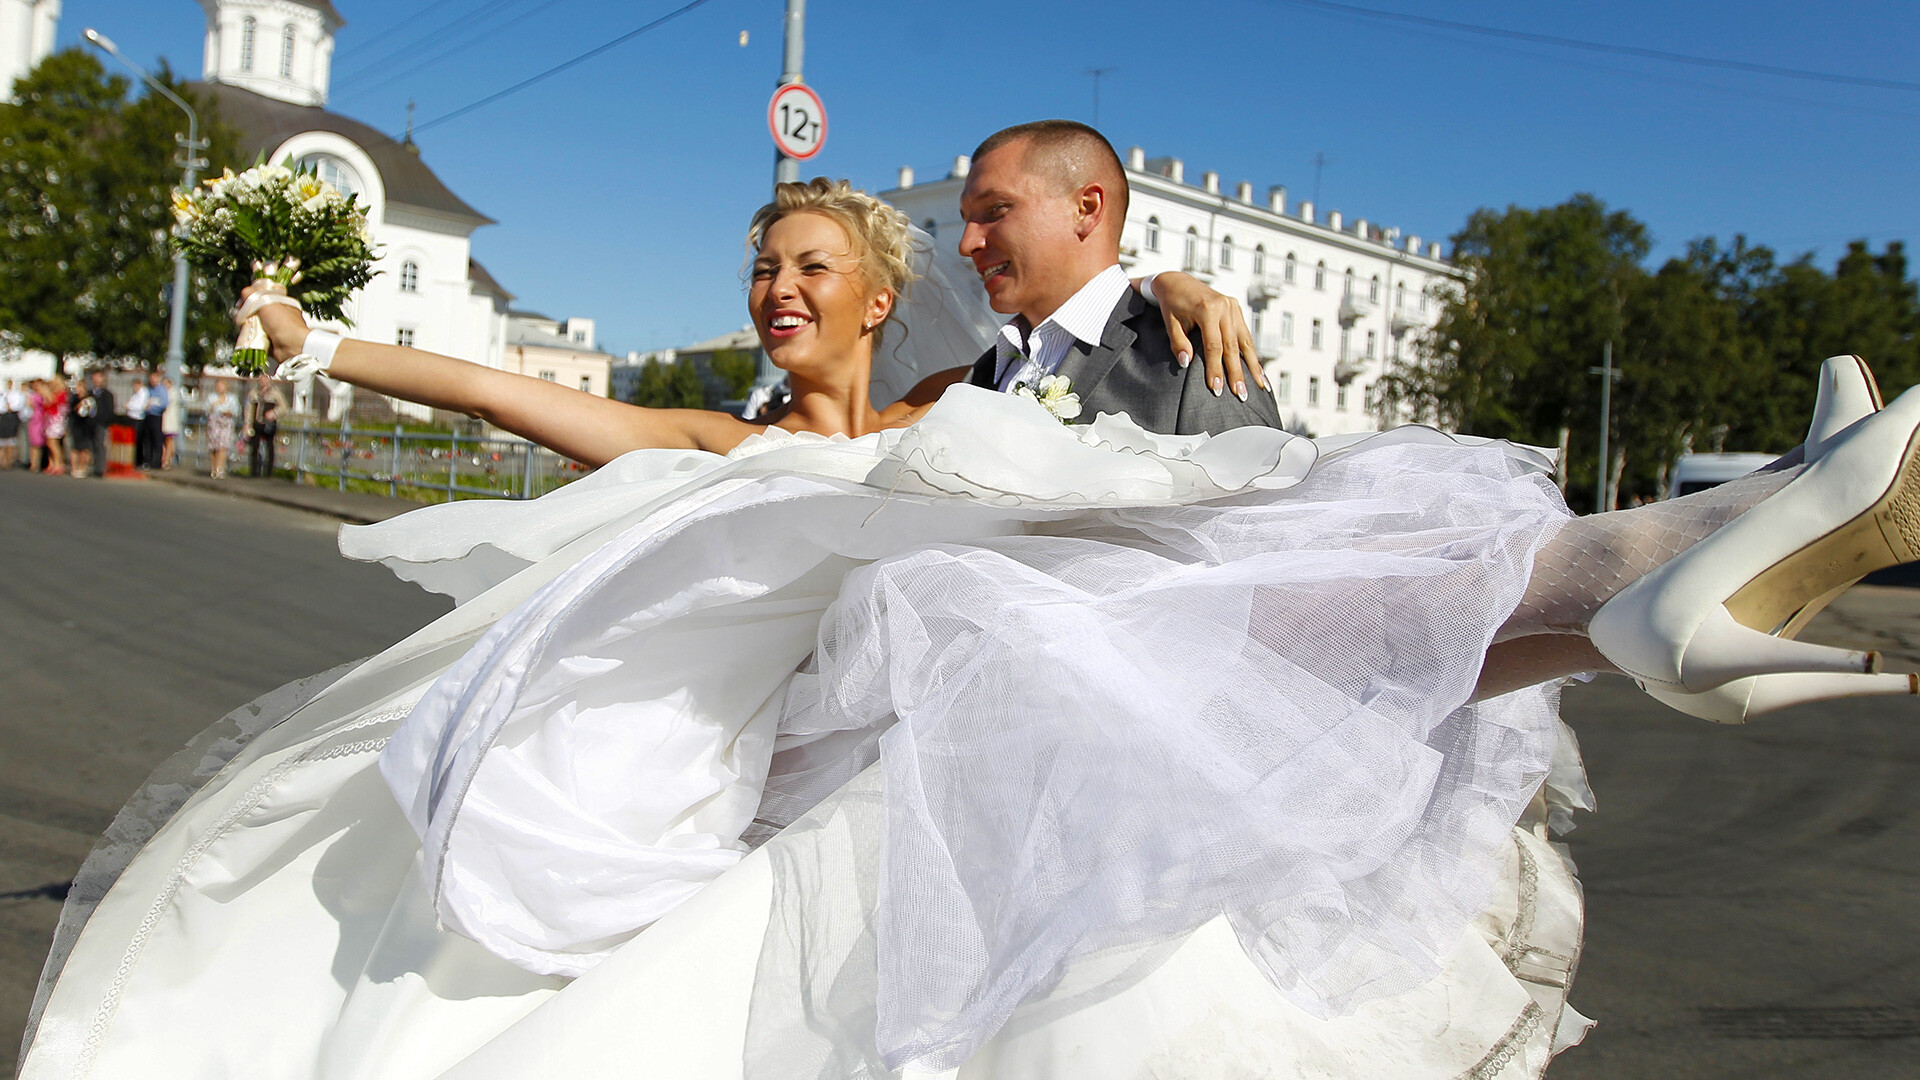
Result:
<instances>
[{"instance_id":1,"label":"bouquet of white flowers and green leaves held up by the bride","mask_svg":"<svg viewBox=\"0 0 1920 1080\"><path fill-rule=\"evenodd\" d=\"M175 192L173 219L175 248L202 273L227 279L234 292L271 281L317 319L346 323L348 296L372 281L367 211L313 173L227 169L192 192ZM253 375L267 359L267 332L259 319L248 319L234 369Z\"/></svg>"}]
</instances>

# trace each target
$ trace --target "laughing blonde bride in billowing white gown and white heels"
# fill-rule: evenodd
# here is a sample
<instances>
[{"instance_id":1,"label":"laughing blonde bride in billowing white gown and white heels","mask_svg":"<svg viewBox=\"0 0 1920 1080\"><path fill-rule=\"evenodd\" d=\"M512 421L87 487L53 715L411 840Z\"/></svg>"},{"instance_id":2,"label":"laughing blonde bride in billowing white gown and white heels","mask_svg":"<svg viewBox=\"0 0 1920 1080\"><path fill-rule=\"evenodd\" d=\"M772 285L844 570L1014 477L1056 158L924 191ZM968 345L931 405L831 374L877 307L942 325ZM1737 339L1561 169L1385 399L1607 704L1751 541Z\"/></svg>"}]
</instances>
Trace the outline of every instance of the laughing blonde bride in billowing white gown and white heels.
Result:
<instances>
[{"instance_id":1,"label":"laughing blonde bride in billowing white gown and white heels","mask_svg":"<svg viewBox=\"0 0 1920 1080\"><path fill-rule=\"evenodd\" d=\"M21 1076L1538 1076L1584 1030L1555 680L1910 690L1789 638L1912 557L1920 398L1843 365L1780 469L1569 521L1428 429L874 407L904 221L787 184L753 238L770 425L263 311L603 467L344 530L457 607L129 803Z\"/></svg>"}]
</instances>

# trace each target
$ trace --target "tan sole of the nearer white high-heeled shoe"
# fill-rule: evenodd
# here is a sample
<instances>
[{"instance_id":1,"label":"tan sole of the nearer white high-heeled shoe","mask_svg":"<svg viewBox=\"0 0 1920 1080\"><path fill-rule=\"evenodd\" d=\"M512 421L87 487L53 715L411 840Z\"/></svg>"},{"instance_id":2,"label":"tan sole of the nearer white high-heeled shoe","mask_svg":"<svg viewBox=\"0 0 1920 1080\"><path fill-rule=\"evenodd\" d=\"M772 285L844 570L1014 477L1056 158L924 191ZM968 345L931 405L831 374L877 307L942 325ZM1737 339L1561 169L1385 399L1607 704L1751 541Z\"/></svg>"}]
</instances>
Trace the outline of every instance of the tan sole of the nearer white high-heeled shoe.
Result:
<instances>
[{"instance_id":1,"label":"tan sole of the nearer white high-heeled shoe","mask_svg":"<svg viewBox=\"0 0 1920 1080\"><path fill-rule=\"evenodd\" d=\"M1740 625L1793 638L1855 582L1920 557L1920 432L1893 484L1864 513L1761 571L1726 600ZM1801 598L1812 600L1801 600Z\"/></svg>"}]
</instances>

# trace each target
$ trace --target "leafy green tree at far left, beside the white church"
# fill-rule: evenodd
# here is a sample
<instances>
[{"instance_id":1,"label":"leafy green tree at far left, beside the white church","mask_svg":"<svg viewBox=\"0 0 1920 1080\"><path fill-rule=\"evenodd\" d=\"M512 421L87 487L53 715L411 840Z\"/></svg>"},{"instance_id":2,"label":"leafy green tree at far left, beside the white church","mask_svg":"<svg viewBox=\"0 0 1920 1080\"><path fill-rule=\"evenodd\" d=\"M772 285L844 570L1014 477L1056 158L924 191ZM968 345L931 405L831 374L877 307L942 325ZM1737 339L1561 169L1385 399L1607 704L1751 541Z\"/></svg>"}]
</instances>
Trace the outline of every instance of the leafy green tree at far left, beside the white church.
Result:
<instances>
[{"instance_id":1,"label":"leafy green tree at far left, beside the white church","mask_svg":"<svg viewBox=\"0 0 1920 1080\"><path fill-rule=\"evenodd\" d=\"M165 67L156 75L200 113L213 169L236 136L211 102ZM167 352L175 133L186 117L159 94L129 100L131 81L81 50L46 58L0 104L0 327L19 344L154 365ZM200 365L232 338L232 298L194 281L186 357Z\"/></svg>"}]
</instances>

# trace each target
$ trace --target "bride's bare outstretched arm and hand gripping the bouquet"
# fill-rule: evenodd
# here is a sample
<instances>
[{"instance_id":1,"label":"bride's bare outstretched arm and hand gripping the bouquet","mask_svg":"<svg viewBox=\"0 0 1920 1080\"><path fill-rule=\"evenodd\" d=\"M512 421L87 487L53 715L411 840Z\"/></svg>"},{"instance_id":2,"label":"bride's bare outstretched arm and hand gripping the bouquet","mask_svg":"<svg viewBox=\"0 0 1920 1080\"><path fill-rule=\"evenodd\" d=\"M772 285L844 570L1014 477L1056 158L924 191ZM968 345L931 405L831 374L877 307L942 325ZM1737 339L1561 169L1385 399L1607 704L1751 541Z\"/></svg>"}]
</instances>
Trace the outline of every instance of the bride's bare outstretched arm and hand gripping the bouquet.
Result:
<instances>
[{"instance_id":1,"label":"bride's bare outstretched arm and hand gripping the bouquet","mask_svg":"<svg viewBox=\"0 0 1920 1080\"><path fill-rule=\"evenodd\" d=\"M301 352L309 327L298 309L271 304L259 311L259 321L276 361ZM340 342L326 375L392 398L480 417L586 465L605 465L641 448L724 454L755 430L728 413L645 409L545 379L351 338Z\"/></svg>"}]
</instances>

